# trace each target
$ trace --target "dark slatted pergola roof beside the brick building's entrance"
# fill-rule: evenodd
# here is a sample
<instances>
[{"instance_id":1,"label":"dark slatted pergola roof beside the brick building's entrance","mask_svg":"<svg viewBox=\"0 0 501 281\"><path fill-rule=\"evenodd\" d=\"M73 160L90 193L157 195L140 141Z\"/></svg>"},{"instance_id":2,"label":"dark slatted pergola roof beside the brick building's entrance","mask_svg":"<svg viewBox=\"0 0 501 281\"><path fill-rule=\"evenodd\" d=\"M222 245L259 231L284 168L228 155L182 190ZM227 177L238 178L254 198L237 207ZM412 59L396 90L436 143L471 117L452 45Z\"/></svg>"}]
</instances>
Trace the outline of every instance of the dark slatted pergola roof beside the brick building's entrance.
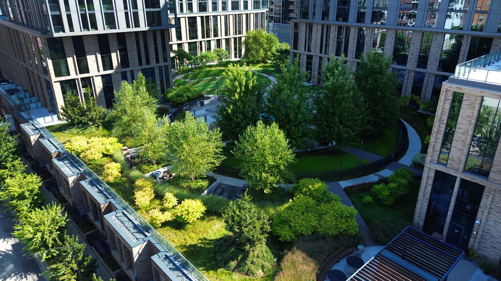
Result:
<instances>
[{"instance_id":1,"label":"dark slatted pergola roof beside the brick building's entrance","mask_svg":"<svg viewBox=\"0 0 501 281\"><path fill-rule=\"evenodd\" d=\"M348 280L445 280L464 252L407 226Z\"/></svg>"}]
</instances>

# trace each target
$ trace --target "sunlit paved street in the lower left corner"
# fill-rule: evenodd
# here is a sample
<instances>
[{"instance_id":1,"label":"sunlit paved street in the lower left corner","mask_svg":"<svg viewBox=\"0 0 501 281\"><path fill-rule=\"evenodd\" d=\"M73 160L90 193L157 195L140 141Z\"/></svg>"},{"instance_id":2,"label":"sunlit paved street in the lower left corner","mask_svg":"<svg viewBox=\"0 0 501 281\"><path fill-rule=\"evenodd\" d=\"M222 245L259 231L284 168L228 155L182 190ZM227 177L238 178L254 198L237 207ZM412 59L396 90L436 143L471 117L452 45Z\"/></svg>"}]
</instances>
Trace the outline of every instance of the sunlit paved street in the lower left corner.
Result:
<instances>
[{"instance_id":1,"label":"sunlit paved street in the lower left corner","mask_svg":"<svg viewBox=\"0 0 501 281\"><path fill-rule=\"evenodd\" d=\"M41 270L35 259L24 256L26 252L23 245L12 236L13 227L10 212L0 205L0 280L43 280L44 278L39 276Z\"/></svg>"}]
</instances>

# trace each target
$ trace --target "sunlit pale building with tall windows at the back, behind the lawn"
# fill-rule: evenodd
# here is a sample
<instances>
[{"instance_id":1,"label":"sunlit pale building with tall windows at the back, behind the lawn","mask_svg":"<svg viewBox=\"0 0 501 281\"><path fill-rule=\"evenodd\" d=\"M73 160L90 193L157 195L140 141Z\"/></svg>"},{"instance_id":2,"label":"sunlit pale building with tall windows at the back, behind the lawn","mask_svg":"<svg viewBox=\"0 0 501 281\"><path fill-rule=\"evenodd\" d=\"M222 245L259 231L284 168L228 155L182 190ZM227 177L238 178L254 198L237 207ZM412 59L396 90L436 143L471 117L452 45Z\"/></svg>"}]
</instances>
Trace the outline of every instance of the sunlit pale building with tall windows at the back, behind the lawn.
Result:
<instances>
[{"instance_id":1,"label":"sunlit pale building with tall windows at the back, behind the lawn","mask_svg":"<svg viewBox=\"0 0 501 281\"><path fill-rule=\"evenodd\" d=\"M236 59L243 55L245 33L265 29L268 0L177 0L175 5L178 12L177 26L170 29L172 50L183 48L197 55L223 48L230 59Z\"/></svg>"}]
</instances>

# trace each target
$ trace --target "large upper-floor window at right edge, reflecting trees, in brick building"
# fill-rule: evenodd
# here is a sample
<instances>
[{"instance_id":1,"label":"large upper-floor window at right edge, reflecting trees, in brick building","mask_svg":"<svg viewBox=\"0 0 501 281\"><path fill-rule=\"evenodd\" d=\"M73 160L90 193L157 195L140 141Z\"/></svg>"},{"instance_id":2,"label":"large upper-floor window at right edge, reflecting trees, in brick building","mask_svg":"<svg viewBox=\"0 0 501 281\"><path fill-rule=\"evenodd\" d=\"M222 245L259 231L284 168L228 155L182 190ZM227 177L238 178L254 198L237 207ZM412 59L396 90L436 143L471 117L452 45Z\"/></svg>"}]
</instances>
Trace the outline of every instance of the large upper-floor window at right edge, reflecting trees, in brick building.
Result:
<instances>
[{"instance_id":1,"label":"large upper-floor window at right edge, reflecting trees, in brick building","mask_svg":"<svg viewBox=\"0 0 501 281\"><path fill-rule=\"evenodd\" d=\"M464 170L488 177L501 134L499 99L483 97Z\"/></svg>"}]
</instances>

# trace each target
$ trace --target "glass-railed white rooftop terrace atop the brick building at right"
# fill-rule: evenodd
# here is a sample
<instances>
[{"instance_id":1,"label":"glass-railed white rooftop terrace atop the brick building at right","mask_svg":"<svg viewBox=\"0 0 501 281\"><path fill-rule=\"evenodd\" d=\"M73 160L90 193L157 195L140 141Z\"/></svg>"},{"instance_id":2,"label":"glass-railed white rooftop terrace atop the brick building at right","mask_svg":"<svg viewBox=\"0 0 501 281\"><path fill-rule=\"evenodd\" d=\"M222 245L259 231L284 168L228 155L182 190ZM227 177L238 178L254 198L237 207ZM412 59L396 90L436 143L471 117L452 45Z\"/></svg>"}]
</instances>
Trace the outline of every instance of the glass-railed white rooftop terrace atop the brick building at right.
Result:
<instances>
[{"instance_id":1,"label":"glass-railed white rooftop terrace atop the brick building at right","mask_svg":"<svg viewBox=\"0 0 501 281\"><path fill-rule=\"evenodd\" d=\"M491 66L500 60L501 50L497 50L475 59L465 61L456 65L453 77L478 82L501 84L501 65L499 65L499 69L487 68L487 66Z\"/></svg>"}]
</instances>

